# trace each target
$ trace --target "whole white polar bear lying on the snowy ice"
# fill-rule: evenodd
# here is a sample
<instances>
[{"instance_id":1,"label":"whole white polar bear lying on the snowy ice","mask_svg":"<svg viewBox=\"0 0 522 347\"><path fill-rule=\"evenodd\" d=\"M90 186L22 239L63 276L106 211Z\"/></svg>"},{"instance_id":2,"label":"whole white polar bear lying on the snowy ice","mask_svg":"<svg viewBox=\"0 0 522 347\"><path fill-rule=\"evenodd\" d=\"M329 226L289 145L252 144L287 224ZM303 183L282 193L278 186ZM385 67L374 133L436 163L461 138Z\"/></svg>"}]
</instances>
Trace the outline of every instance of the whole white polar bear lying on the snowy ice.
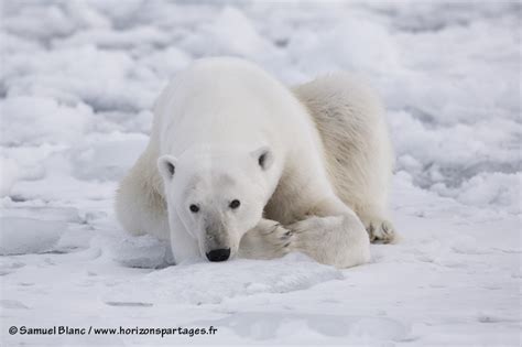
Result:
<instances>
[{"instance_id":1,"label":"whole white polar bear lying on the snowy ice","mask_svg":"<svg viewBox=\"0 0 522 347\"><path fill-rule=\"evenodd\" d=\"M240 58L203 58L156 100L116 213L170 239L175 263L301 251L348 268L394 238L391 172L383 109L348 74L289 89Z\"/></svg>"}]
</instances>

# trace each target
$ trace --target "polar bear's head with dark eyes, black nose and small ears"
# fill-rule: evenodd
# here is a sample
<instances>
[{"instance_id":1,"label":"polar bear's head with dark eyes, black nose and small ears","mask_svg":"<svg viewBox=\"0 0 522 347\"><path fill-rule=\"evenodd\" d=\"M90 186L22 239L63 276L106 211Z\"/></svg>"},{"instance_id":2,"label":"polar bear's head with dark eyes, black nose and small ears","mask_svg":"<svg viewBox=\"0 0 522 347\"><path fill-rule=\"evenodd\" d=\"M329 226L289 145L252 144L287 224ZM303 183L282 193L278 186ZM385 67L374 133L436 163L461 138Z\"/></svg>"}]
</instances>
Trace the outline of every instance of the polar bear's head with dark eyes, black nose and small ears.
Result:
<instances>
[{"instance_id":1,"label":"polar bear's head with dark eyes, black nose and small ears","mask_svg":"<svg viewBox=\"0 0 522 347\"><path fill-rule=\"evenodd\" d=\"M273 192L272 166L268 147L159 158L168 215L197 240L203 258L224 261L237 254L241 237L261 220Z\"/></svg>"}]
</instances>

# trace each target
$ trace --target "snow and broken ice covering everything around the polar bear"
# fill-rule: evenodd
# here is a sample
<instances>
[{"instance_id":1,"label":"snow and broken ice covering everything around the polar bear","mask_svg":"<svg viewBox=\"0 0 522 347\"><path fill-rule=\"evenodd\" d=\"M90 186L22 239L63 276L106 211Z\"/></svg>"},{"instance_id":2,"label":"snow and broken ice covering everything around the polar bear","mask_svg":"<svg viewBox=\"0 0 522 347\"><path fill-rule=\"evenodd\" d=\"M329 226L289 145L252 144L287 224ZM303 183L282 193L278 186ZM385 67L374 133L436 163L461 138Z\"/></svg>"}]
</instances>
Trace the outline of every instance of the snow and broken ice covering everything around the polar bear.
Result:
<instances>
[{"instance_id":1,"label":"snow and broken ice covering everything around the polar bear","mask_svg":"<svg viewBox=\"0 0 522 347\"><path fill-rule=\"evenodd\" d=\"M521 7L502 2L4 1L0 344L520 346ZM209 55L289 85L350 69L382 95L396 245L337 270L303 254L171 267L126 235L117 182L154 98ZM11 326L216 335L10 335Z\"/></svg>"}]
</instances>

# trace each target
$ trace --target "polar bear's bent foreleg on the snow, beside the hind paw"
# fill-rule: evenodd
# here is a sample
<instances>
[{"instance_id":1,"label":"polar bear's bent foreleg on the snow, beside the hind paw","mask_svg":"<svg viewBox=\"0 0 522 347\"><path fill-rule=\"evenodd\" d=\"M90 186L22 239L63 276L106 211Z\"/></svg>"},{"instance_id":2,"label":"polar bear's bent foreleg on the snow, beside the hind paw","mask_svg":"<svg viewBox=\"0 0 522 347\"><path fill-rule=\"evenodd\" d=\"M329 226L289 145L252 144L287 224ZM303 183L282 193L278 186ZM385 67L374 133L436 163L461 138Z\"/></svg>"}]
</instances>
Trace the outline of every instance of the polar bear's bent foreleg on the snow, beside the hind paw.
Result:
<instances>
[{"instance_id":1,"label":"polar bear's bent foreleg on the snow, beside the hind paw","mask_svg":"<svg viewBox=\"0 0 522 347\"><path fill-rule=\"evenodd\" d=\"M318 262L349 268L370 260L370 239L357 215L337 197L315 206L313 215L287 226L293 231L290 250Z\"/></svg>"}]
</instances>

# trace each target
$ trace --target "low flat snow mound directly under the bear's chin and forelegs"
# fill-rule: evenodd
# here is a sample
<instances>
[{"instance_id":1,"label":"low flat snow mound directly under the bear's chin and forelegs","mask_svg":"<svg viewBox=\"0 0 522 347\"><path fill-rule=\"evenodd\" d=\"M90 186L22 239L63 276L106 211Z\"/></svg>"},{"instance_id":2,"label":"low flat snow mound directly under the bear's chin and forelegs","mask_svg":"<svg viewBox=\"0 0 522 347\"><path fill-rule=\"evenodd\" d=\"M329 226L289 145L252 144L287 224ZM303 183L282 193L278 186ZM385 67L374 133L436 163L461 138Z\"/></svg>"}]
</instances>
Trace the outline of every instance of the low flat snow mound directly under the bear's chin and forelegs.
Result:
<instances>
[{"instance_id":1,"label":"low flat snow mound directly under the bear's chin and forelegs","mask_svg":"<svg viewBox=\"0 0 522 347\"><path fill-rule=\"evenodd\" d=\"M106 302L218 304L237 296L305 290L342 278L335 268L301 254L270 261L193 263L154 271L133 283L118 285Z\"/></svg>"}]
</instances>

